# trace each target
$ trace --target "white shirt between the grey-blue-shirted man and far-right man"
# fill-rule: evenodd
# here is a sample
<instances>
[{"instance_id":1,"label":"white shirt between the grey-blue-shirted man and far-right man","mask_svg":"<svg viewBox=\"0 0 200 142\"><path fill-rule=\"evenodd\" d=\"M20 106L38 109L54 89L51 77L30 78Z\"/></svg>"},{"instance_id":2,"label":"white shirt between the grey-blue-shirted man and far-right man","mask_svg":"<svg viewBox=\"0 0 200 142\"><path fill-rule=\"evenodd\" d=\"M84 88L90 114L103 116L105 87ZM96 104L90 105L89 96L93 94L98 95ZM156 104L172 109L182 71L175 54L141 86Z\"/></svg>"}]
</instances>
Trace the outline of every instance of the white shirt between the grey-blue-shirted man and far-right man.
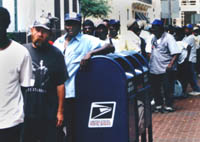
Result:
<instances>
[{"instance_id":1,"label":"white shirt between the grey-blue-shirted man and far-right man","mask_svg":"<svg viewBox=\"0 0 200 142\"><path fill-rule=\"evenodd\" d=\"M178 47L181 49L181 54L179 55L178 57L178 64L181 64L185 61L186 57L187 57L187 54L188 54L188 51L187 51L187 46L188 44L184 41L177 41L176 42Z\"/></svg>"}]
</instances>

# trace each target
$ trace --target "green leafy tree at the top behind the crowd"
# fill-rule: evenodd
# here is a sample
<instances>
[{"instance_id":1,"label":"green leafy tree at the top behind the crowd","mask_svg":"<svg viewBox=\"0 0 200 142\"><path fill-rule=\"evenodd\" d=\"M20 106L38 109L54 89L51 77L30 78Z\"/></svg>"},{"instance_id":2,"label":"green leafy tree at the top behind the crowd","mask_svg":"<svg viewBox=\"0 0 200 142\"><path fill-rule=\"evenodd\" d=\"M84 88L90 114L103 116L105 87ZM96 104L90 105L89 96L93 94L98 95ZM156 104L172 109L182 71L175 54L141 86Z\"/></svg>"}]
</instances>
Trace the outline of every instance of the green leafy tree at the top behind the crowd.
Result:
<instances>
[{"instance_id":1,"label":"green leafy tree at the top behind the crowd","mask_svg":"<svg viewBox=\"0 0 200 142\"><path fill-rule=\"evenodd\" d=\"M86 17L103 18L111 12L107 0L80 0L83 20Z\"/></svg>"}]
</instances>

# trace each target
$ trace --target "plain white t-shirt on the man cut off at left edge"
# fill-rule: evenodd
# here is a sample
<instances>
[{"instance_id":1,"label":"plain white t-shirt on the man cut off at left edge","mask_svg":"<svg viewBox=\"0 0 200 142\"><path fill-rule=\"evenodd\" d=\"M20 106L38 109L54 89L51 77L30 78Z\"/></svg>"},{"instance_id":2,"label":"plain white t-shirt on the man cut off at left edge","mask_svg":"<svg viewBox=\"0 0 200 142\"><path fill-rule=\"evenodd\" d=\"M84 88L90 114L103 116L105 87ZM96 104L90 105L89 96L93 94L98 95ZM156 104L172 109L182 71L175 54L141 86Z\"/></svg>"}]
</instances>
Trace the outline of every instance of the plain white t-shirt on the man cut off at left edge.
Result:
<instances>
[{"instance_id":1,"label":"plain white t-shirt on the man cut off at left edge","mask_svg":"<svg viewBox=\"0 0 200 142\"><path fill-rule=\"evenodd\" d=\"M15 41L0 50L0 129L24 121L21 86L30 86L32 61L28 50Z\"/></svg>"}]
</instances>

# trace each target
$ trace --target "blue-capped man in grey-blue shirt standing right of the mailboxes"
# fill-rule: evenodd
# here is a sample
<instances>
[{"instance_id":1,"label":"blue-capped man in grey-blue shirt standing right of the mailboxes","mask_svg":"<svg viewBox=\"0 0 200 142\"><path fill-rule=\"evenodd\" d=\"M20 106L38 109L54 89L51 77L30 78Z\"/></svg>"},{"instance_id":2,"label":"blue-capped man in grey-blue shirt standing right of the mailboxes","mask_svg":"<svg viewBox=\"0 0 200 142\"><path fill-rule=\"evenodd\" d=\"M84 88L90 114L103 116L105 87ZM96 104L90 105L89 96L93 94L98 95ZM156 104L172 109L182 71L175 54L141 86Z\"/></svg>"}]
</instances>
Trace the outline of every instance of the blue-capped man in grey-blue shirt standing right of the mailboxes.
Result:
<instances>
[{"instance_id":1,"label":"blue-capped man in grey-blue shirt standing right of the mailboxes","mask_svg":"<svg viewBox=\"0 0 200 142\"><path fill-rule=\"evenodd\" d=\"M173 112L172 94L174 90L173 73L175 60L181 50L174 37L164 31L163 22L154 20L152 23L152 49L149 61L152 95L155 100L155 112ZM161 94L161 85L164 87L165 104Z\"/></svg>"}]
</instances>

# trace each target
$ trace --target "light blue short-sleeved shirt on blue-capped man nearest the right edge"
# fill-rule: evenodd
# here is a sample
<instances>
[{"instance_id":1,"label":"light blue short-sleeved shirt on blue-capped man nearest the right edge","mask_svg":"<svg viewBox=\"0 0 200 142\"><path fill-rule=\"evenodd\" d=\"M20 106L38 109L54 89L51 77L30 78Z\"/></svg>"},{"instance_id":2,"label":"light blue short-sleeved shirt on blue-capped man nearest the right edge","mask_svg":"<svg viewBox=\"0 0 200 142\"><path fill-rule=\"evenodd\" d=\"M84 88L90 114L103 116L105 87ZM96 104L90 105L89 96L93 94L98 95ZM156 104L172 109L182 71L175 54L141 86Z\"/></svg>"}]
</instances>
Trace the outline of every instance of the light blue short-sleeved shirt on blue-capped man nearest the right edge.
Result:
<instances>
[{"instance_id":1,"label":"light blue short-sleeved shirt on blue-capped man nearest the right edge","mask_svg":"<svg viewBox=\"0 0 200 142\"><path fill-rule=\"evenodd\" d=\"M196 63L197 62L197 49L196 49L195 36L193 34L191 34L187 37L184 37L183 41L192 47L191 51L190 51L190 55L189 55L189 62Z\"/></svg>"}]
</instances>

